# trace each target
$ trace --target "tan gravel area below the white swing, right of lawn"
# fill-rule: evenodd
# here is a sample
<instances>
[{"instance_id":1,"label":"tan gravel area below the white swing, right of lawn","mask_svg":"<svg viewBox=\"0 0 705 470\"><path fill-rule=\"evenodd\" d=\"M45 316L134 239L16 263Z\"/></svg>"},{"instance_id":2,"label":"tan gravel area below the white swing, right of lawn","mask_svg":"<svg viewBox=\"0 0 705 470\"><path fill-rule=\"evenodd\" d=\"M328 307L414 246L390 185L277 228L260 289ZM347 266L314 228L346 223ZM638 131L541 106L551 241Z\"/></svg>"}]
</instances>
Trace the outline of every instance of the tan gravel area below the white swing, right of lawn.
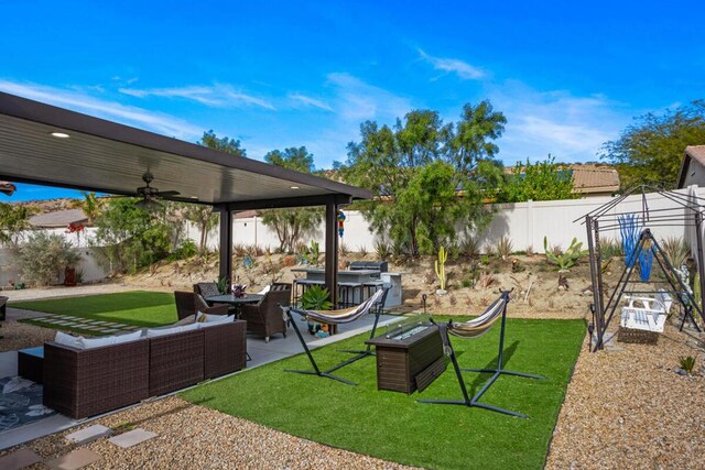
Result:
<instances>
[{"instance_id":1,"label":"tan gravel area below the white swing, right of lawn","mask_svg":"<svg viewBox=\"0 0 705 470\"><path fill-rule=\"evenodd\" d=\"M696 375L675 373L681 356L696 357ZM590 353L586 338L546 468L705 468L704 361L694 335L670 325L658 345Z\"/></svg>"}]
</instances>

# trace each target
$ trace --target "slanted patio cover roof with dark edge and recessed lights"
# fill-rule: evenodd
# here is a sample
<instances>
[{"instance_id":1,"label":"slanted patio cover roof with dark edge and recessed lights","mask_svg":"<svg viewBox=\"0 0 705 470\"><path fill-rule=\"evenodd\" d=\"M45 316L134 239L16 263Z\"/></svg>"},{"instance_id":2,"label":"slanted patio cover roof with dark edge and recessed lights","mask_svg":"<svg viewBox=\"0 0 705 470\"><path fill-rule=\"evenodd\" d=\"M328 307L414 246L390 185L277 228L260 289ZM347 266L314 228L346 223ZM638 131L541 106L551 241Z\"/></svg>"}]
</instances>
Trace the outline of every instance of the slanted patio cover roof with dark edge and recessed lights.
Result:
<instances>
[{"instance_id":1,"label":"slanted patio cover roof with dark edge and recessed lights","mask_svg":"<svg viewBox=\"0 0 705 470\"><path fill-rule=\"evenodd\" d=\"M61 139L52 132L63 132ZM0 179L133 196L142 174L231 210L368 199L365 189L0 92Z\"/></svg>"}]
</instances>

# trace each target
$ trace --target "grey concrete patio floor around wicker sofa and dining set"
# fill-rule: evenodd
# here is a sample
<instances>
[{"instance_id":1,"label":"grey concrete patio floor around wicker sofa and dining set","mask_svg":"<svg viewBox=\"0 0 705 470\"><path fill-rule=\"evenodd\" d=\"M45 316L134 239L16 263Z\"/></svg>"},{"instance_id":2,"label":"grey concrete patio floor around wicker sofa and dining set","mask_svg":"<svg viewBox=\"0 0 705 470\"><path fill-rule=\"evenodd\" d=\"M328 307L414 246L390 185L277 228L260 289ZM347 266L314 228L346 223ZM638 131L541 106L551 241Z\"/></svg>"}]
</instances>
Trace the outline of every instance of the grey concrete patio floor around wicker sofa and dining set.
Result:
<instances>
[{"instance_id":1,"label":"grey concrete patio floor around wicker sofa and dining set","mask_svg":"<svg viewBox=\"0 0 705 470\"><path fill-rule=\"evenodd\" d=\"M23 310L23 313L26 313L26 310ZM41 315L44 315L44 314L41 314ZM24 315L21 315L21 314L18 316L24 317ZM380 317L380 321L378 325L378 334L379 335L383 334L384 327L387 325L393 324L395 321L400 321L402 319L403 317L400 317L400 316L382 315ZM306 341L306 345L308 346L308 348L313 350L313 349L317 349L323 346L326 346L336 341L340 341L343 339L346 339L366 331L370 331L372 328L372 324L375 321L375 317L371 315L367 315L352 324L340 325L338 327L338 334L330 336L328 338L317 338L313 335L310 335L306 331L306 324L304 321L301 321L300 318L296 318L296 321L297 321L299 328L302 331L304 340ZM360 345L360 346L362 347L364 345ZM243 371L236 372L235 374L303 352L301 342L299 341L299 338L296 337L296 334L292 327L288 329L286 338L282 337L282 335L275 335L270 338L269 343L264 342L263 338L248 335L247 350L251 357L251 361L247 362L247 368ZM17 375L17 371L18 371L17 351L0 352L0 378ZM235 375L235 374L231 374L231 375ZM218 378L215 380L223 380L227 376L230 376L230 375L226 375L224 378ZM156 398L151 398L149 401L161 400L176 393L180 393L180 392L174 392L172 394L163 395ZM139 406L139 405L140 404L132 405L132 406ZM80 419L80 420L72 419L67 416L56 414L45 419L40 419L37 422L28 424L25 426L21 426L17 429L7 430L0 434L0 450L40 438L43 436L47 436L50 434L68 429L78 424L84 424L84 423L97 419L99 417L106 416L108 414L117 413L121 409L126 409L126 408L115 409L104 415L98 415L88 419Z\"/></svg>"}]
</instances>

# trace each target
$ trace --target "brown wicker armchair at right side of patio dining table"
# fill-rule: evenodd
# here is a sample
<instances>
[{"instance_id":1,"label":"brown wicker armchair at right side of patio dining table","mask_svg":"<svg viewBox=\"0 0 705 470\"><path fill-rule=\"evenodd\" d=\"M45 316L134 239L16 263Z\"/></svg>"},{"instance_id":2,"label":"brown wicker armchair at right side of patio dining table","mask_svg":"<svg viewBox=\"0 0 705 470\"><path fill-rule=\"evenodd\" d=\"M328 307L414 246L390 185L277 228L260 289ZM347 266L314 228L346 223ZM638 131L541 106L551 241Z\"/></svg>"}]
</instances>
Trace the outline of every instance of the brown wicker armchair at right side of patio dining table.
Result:
<instances>
[{"instance_id":1,"label":"brown wicker armchair at right side of patio dining table","mask_svg":"<svg viewBox=\"0 0 705 470\"><path fill-rule=\"evenodd\" d=\"M240 318L247 321L247 330L264 337L281 332L286 338L286 321L281 306L291 305L291 284L274 283L264 297L254 305L242 305Z\"/></svg>"}]
</instances>

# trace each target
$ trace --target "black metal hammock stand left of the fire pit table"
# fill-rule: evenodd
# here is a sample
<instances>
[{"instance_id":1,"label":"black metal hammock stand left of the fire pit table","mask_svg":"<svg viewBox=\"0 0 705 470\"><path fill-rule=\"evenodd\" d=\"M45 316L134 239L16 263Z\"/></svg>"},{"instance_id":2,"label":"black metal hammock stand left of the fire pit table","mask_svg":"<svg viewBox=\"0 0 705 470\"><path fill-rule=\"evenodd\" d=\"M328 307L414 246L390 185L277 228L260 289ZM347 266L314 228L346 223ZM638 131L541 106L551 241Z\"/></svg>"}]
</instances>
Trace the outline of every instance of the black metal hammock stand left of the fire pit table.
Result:
<instances>
[{"instance_id":1,"label":"black metal hammock stand left of the fire pit table","mask_svg":"<svg viewBox=\"0 0 705 470\"><path fill-rule=\"evenodd\" d=\"M372 339L375 337L375 332L377 331L377 325L379 323L379 317L382 314L382 308L384 306L384 300L387 299L387 294L389 293L389 288L390 288L390 286L384 286L382 289L378 291L375 295L372 295L372 297L370 297L368 300L366 300L366 303L369 303L368 310L375 308L375 323L372 324L372 330L370 331L370 339ZM354 353L356 356L354 356L352 358L340 362L337 365L334 365L330 369L322 371L321 368L318 368L318 364L316 363L316 360L313 358L313 354L311 353L311 349L308 349L308 345L306 345L306 341L304 340L304 337L301 334L301 330L296 326L296 321L294 321L294 318L292 316L292 311L295 313L295 314L299 314L301 316L308 315L308 311L307 310L299 310L299 309L294 309L294 308L288 308L286 309L286 316L289 317L292 326L294 327L294 331L296 332L296 336L299 337L299 341L301 341L301 346L304 347L304 352L306 353L306 357L308 358L308 361L311 362L311 365L313 367L313 370L311 371L311 370L285 369L284 372L292 372L292 373L304 374L304 375L317 375L317 376L321 376L321 378L332 379L332 380L345 383L347 385L357 385L357 383L350 382L347 379L343 379L340 376L333 375L333 372L337 371L338 369L343 369L344 367L349 365L349 364L351 364L354 362L357 362L360 359L365 359L368 356L375 356L375 351L370 350L370 346L368 345L367 349L361 350L361 351L341 350L340 352L350 352L350 353ZM351 320L339 321L339 323L351 323L351 321L355 321L356 319L358 319L359 317L361 317L362 315L365 315L365 314L360 314L359 316L352 318ZM329 321L335 321L335 319L329 319Z\"/></svg>"}]
</instances>

